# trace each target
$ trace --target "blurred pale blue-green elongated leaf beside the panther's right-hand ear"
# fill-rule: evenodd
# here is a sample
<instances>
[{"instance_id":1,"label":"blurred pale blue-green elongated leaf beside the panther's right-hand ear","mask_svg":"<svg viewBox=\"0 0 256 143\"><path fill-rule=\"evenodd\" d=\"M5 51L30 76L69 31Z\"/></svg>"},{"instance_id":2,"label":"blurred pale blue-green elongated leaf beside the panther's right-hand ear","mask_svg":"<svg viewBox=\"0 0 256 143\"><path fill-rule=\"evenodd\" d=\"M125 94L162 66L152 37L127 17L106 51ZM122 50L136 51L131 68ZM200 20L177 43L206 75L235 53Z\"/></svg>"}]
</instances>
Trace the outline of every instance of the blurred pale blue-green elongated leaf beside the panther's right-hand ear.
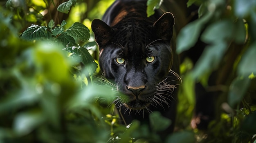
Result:
<instances>
[{"instance_id":1,"label":"blurred pale blue-green elongated leaf beside the panther's right-hand ear","mask_svg":"<svg viewBox=\"0 0 256 143\"><path fill-rule=\"evenodd\" d=\"M179 35L177 35L177 53L182 53L188 50L198 41L200 32L204 28L204 24L211 18L212 13L207 13L202 18L195 20L187 24L181 29Z\"/></svg>"}]
</instances>

